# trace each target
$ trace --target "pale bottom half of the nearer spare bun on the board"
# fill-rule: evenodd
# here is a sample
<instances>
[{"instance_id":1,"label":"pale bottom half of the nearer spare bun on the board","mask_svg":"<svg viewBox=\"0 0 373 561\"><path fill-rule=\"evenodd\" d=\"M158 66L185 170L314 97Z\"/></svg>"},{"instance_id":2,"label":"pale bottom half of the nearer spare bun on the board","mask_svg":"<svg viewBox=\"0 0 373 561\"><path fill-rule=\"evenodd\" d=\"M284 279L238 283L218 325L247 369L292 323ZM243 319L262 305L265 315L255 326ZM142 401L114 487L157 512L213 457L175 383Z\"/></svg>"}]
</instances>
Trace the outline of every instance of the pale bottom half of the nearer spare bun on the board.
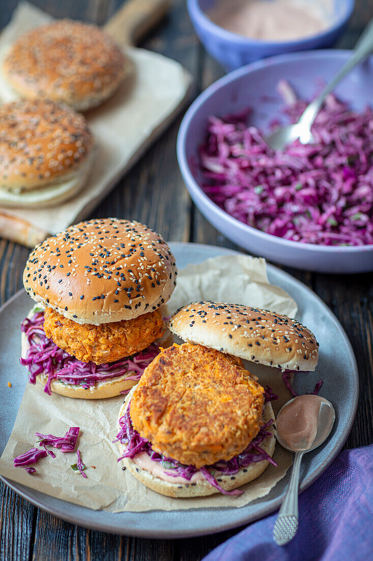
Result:
<instances>
[{"instance_id":1,"label":"pale bottom half of the nearer spare bun on the board","mask_svg":"<svg viewBox=\"0 0 373 561\"><path fill-rule=\"evenodd\" d=\"M48 208L71 199L85 187L92 170L96 149L92 149L87 159L73 174L56 180L50 185L18 193L16 190L0 188L0 206L6 208Z\"/></svg>"}]
</instances>

